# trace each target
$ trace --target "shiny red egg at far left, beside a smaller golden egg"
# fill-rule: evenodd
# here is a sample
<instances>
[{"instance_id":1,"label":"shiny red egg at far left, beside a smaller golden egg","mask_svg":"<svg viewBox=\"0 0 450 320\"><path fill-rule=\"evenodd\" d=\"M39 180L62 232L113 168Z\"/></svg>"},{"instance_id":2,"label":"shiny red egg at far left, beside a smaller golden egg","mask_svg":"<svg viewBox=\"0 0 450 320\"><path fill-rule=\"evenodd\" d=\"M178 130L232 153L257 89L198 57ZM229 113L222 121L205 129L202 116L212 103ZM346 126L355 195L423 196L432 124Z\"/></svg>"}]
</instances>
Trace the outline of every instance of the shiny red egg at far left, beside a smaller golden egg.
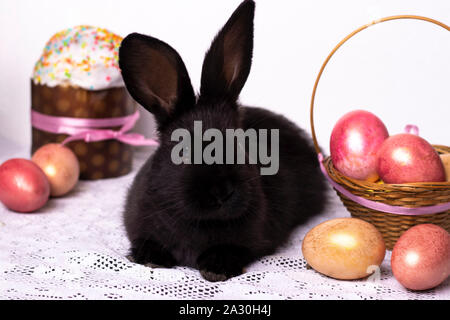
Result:
<instances>
[{"instance_id":1,"label":"shiny red egg at far left, beside a smaller golden egg","mask_svg":"<svg viewBox=\"0 0 450 320\"><path fill-rule=\"evenodd\" d=\"M17 212L43 207L50 195L44 172L32 161L11 159L0 166L0 201Z\"/></svg>"}]
</instances>

